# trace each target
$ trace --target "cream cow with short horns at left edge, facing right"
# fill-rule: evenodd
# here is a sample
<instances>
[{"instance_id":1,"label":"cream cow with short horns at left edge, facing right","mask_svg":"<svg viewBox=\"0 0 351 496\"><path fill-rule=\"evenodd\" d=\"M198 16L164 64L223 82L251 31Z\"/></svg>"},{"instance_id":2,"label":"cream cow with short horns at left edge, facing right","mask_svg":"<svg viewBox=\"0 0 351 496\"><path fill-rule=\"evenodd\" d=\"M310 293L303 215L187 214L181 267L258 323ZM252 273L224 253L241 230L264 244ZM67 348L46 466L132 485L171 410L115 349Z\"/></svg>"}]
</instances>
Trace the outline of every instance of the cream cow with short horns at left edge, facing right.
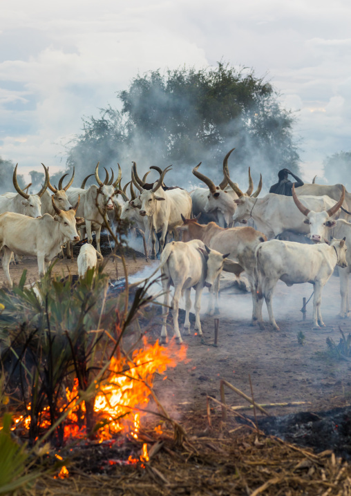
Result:
<instances>
[{"instance_id":1,"label":"cream cow with short horns at left edge, facing right","mask_svg":"<svg viewBox=\"0 0 351 496\"><path fill-rule=\"evenodd\" d=\"M39 276L42 276L48 263L61 251L62 245L68 240L79 241L76 223L82 222L75 218L79 204L74 209L65 212L56 207L55 217L45 213L40 218L30 218L21 213L6 212L0 216L0 250L3 250L2 266L12 287L9 264L12 252L19 255L37 256Z\"/></svg>"}]
</instances>

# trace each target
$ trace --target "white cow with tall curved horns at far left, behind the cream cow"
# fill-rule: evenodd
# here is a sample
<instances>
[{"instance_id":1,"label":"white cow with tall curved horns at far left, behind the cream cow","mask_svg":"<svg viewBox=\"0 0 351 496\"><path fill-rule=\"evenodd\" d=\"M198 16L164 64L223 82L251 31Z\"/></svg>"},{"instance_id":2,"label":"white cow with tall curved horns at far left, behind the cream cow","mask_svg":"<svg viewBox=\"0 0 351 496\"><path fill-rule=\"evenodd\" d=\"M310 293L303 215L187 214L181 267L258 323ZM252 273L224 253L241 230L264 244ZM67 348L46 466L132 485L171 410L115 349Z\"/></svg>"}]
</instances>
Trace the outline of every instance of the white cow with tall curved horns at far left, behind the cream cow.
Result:
<instances>
[{"instance_id":1,"label":"white cow with tall curved horns at far left, behind the cream cow","mask_svg":"<svg viewBox=\"0 0 351 496\"><path fill-rule=\"evenodd\" d=\"M17 164L18 165L18 164ZM6 195L0 196L0 213L4 212L15 212L21 213L24 216L29 217L40 217L41 216L41 197L46 191L49 182L49 173L46 166L43 164L45 171L45 182L39 193L35 195L28 195L25 193L17 182L17 165L15 166L15 171L13 171L13 185L17 191L16 193L6 193Z\"/></svg>"}]
</instances>

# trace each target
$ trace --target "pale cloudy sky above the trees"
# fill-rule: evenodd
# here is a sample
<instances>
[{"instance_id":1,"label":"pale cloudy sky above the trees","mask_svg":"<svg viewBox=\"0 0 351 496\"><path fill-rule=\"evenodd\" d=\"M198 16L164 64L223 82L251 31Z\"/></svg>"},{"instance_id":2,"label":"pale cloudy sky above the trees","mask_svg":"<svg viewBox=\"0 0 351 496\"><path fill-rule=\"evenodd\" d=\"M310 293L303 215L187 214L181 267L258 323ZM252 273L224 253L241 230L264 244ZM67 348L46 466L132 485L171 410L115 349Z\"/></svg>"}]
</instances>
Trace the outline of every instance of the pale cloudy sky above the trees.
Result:
<instances>
[{"instance_id":1,"label":"pale cloudy sky above the trees","mask_svg":"<svg viewBox=\"0 0 351 496\"><path fill-rule=\"evenodd\" d=\"M351 151L349 0L13 0L0 3L0 156L64 170L82 117L137 73L254 68L296 112L303 178Z\"/></svg>"}]
</instances>

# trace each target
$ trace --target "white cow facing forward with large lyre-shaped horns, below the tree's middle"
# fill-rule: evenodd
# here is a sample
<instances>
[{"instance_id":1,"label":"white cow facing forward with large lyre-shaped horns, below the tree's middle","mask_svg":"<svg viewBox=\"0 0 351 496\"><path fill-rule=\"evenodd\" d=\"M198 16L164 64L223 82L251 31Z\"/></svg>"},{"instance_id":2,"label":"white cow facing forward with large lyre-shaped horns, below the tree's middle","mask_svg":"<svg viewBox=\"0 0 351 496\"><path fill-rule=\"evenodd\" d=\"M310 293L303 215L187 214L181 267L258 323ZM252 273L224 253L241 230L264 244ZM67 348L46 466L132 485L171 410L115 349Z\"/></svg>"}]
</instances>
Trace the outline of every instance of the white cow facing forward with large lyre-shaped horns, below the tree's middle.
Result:
<instances>
[{"instance_id":1,"label":"white cow facing forward with large lyre-shaped horns, below the tree's middle","mask_svg":"<svg viewBox=\"0 0 351 496\"><path fill-rule=\"evenodd\" d=\"M161 232L160 251L162 252L167 232L173 233L175 227L182 225L182 215L187 218L191 216L191 198L187 191L181 188L164 191L161 187L169 167L171 166L164 169L160 179L150 190L143 189L137 184L132 169L133 184L140 191L140 215L149 219L146 225L146 239L149 241L150 234L152 235L152 258L156 256L155 233Z\"/></svg>"}]
</instances>

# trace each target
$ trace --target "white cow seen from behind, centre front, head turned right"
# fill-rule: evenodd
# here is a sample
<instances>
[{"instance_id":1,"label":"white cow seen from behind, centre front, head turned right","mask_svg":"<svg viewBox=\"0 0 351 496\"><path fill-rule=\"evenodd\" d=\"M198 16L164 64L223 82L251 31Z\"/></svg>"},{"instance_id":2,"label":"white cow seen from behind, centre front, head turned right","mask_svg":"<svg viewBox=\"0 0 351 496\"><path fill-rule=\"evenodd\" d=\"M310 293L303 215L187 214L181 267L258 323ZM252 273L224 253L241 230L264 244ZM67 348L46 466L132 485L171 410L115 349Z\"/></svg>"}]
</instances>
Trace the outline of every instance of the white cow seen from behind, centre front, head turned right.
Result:
<instances>
[{"instance_id":1,"label":"white cow seen from behind, centre front, head turned right","mask_svg":"<svg viewBox=\"0 0 351 496\"><path fill-rule=\"evenodd\" d=\"M172 299L172 314L174 334L177 343L182 343L178 325L179 300L185 294L185 321L184 334L190 334L189 312L191 309L191 288L195 289L195 330L202 335L200 323L200 303L202 289L211 287L214 280L220 275L225 265L237 265L231 260L225 260L227 255L207 248L200 240L187 243L173 241L162 251L160 267L162 273L162 286L164 291L163 325L161 343L167 343L167 316L169 314L169 289L174 286Z\"/></svg>"}]
</instances>

